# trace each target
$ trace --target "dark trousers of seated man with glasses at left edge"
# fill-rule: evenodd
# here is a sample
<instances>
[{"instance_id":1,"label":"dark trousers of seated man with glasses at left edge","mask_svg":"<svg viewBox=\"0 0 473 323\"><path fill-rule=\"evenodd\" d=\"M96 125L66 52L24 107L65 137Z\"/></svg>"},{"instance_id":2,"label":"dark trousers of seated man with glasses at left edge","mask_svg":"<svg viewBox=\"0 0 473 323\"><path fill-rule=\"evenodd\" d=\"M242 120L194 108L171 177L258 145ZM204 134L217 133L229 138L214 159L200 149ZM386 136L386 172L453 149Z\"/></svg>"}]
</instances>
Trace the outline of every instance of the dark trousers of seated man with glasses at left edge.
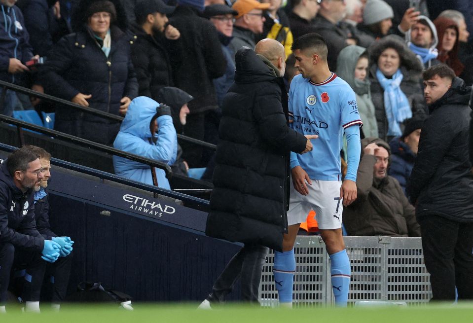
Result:
<instances>
[{"instance_id":1,"label":"dark trousers of seated man with glasses at left edge","mask_svg":"<svg viewBox=\"0 0 473 323\"><path fill-rule=\"evenodd\" d=\"M39 301L46 271L46 261L41 259L41 252L21 250L10 243L2 243L0 244L0 305L6 302L6 291L13 267L26 268L25 282L20 294L23 301Z\"/></svg>"}]
</instances>

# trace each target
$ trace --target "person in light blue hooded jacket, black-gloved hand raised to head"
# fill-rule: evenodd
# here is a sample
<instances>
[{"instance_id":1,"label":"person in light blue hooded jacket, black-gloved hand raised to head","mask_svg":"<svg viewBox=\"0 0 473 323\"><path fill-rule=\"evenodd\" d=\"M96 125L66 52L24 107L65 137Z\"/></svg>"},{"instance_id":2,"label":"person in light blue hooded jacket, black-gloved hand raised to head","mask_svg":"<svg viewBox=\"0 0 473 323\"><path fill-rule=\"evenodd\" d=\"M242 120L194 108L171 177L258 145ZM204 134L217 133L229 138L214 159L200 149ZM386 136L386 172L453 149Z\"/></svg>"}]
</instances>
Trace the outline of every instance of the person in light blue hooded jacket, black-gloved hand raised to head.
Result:
<instances>
[{"instance_id":1,"label":"person in light blue hooded jacket, black-gloved hand raised to head","mask_svg":"<svg viewBox=\"0 0 473 323\"><path fill-rule=\"evenodd\" d=\"M135 98L128 108L113 147L135 155L173 164L178 149L171 108L148 97ZM113 156L115 174L153 185L148 165ZM171 189L164 170L155 168L158 186Z\"/></svg>"}]
</instances>

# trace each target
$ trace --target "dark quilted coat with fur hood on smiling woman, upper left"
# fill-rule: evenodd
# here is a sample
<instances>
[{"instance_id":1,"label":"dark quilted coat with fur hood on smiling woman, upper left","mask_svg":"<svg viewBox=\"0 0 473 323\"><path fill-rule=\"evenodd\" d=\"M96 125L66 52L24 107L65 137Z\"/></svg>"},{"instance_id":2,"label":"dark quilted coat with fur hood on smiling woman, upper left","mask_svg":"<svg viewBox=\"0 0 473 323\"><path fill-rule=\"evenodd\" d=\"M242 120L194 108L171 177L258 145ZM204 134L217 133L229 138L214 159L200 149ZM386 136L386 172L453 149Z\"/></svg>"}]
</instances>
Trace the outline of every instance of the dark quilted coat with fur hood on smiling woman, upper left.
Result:
<instances>
[{"instance_id":1,"label":"dark quilted coat with fur hood on smiling woman, upper left","mask_svg":"<svg viewBox=\"0 0 473 323\"><path fill-rule=\"evenodd\" d=\"M82 2L77 10L85 12L86 8L80 7ZM115 7L118 19L126 19L126 15L119 14L123 10L119 1L115 1ZM119 20L110 25L109 57L86 25L63 37L40 69L45 93L68 101L79 92L91 94L87 99L90 108L118 114L121 98L126 96L133 100L138 95L130 52L134 38L117 27L124 25L126 23ZM57 107L54 128L97 143L112 144L120 124L72 108Z\"/></svg>"}]
</instances>

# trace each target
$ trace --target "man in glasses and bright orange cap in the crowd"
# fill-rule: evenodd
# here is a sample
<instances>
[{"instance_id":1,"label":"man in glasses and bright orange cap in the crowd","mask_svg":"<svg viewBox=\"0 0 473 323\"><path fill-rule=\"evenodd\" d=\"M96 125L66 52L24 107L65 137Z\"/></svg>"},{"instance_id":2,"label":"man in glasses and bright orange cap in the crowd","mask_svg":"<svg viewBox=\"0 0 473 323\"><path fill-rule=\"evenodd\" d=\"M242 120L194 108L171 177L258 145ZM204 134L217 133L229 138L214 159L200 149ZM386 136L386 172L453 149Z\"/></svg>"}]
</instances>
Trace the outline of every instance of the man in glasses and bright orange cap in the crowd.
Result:
<instances>
[{"instance_id":1,"label":"man in glasses and bright orange cap in the crowd","mask_svg":"<svg viewBox=\"0 0 473 323\"><path fill-rule=\"evenodd\" d=\"M230 49L235 57L236 52L243 46L255 49L256 35L263 32L265 18L263 10L269 8L269 3L260 3L256 0L236 0L232 8L238 12L233 26L233 39Z\"/></svg>"}]
</instances>

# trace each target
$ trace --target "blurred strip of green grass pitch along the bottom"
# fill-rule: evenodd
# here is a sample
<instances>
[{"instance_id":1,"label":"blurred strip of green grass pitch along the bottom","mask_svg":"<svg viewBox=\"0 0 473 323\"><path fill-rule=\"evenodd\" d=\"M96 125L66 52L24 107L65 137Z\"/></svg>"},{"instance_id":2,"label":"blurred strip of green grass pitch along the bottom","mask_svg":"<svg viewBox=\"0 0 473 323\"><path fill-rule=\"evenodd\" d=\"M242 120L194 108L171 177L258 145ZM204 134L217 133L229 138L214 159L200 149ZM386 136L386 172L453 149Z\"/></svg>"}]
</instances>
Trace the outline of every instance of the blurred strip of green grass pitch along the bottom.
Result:
<instances>
[{"instance_id":1,"label":"blurred strip of green grass pitch along the bottom","mask_svg":"<svg viewBox=\"0 0 473 323\"><path fill-rule=\"evenodd\" d=\"M473 323L473 303L372 308L268 309L227 305L197 310L195 304L134 304L134 311L108 306L63 306L61 312L21 313L13 307L1 323Z\"/></svg>"}]
</instances>

